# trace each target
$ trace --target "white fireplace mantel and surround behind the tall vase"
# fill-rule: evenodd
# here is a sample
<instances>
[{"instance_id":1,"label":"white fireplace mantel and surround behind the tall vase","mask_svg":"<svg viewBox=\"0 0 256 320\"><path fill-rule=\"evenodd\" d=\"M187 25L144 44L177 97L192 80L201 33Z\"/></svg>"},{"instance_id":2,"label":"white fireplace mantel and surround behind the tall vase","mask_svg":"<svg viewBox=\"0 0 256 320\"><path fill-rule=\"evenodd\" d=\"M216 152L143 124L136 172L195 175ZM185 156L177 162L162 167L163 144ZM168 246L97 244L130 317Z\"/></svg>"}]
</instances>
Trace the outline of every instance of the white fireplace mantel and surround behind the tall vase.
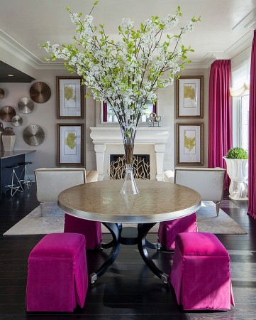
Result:
<instances>
[{"instance_id":1,"label":"white fireplace mantel and surround behind the tall vase","mask_svg":"<svg viewBox=\"0 0 256 320\"><path fill-rule=\"evenodd\" d=\"M91 127L90 137L96 154L98 180L109 179L111 154L123 155L121 130L116 127ZM134 154L150 156L150 180L163 181L165 145L169 139L169 127L138 127Z\"/></svg>"}]
</instances>

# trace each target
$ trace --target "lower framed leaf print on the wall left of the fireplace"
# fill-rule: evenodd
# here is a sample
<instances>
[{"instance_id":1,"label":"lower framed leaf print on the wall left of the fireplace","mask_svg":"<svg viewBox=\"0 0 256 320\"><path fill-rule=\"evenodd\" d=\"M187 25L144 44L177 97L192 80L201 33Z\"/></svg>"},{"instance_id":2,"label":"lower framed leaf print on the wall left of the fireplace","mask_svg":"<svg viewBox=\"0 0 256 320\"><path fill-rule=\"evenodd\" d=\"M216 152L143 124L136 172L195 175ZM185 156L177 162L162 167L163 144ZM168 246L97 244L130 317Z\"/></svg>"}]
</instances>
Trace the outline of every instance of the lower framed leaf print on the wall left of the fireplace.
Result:
<instances>
[{"instance_id":1,"label":"lower framed leaf print on the wall left of the fireplace","mask_svg":"<svg viewBox=\"0 0 256 320\"><path fill-rule=\"evenodd\" d=\"M84 166L84 124L57 124L57 166Z\"/></svg>"}]
</instances>

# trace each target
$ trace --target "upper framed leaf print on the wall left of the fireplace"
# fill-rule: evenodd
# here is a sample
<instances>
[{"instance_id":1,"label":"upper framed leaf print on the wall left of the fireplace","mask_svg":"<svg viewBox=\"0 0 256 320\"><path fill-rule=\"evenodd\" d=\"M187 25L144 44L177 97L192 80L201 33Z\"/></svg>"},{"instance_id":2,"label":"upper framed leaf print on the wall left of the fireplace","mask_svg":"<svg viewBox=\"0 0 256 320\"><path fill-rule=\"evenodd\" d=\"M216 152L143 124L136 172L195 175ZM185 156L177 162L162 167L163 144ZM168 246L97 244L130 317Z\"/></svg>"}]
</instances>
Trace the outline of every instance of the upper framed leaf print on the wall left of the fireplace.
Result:
<instances>
[{"instance_id":1,"label":"upper framed leaf print on the wall left of the fireplace","mask_svg":"<svg viewBox=\"0 0 256 320\"><path fill-rule=\"evenodd\" d=\"M82 77L56 77L57 119L84 119Z\"/></svg>"}]
</instances>

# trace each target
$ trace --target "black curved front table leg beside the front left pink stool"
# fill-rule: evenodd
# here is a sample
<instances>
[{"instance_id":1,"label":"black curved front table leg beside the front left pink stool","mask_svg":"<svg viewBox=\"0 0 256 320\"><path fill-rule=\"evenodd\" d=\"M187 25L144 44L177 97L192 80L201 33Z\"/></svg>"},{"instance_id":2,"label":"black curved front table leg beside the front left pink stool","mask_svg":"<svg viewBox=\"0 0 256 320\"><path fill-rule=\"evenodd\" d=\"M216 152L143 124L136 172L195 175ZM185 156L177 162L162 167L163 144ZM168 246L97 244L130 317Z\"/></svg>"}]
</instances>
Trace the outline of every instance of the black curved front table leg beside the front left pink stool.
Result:
<instances>
[{"instance_id":1,"label":"black curved front table leg beside the front left pink stool","mask_svg":"<svg viewBox=\"0 0 256 320\"><path fill-rule=\"evenodd\" d=\"M101 277L102 274L104 274L108 268L113 264L113 262L116 260L116 257L118 256L118 253L120 251L120 234L121 234L121 228L116 223L103 223L106 228L111 232L111 235L113 237L113 240L109 242L112 244L112 250L110 254L108 255L108 259L104 262L103 265L96 271L90 274L89 278L91 283L94 283L98 277Z\"/></svg>"}]
</instances>

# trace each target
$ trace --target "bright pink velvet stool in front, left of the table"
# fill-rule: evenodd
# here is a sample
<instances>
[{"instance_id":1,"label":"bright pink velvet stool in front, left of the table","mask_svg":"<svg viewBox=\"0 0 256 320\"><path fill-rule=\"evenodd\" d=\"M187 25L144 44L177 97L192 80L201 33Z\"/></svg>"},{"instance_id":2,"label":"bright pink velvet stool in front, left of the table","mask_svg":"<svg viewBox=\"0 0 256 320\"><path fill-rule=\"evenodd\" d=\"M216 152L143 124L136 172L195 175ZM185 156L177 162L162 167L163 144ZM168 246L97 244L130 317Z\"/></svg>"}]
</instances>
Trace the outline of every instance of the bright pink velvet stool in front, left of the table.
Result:
<instances>
[{"instance_id":1,"label":"bright pink velvet stool in front, left of the table","mask_svg":"<svg viewBox=\"0 0 256 320\"><path fill-rule=\"evenodd\" d=\"M73 311L88 288L84 235L52 233L28 257L27 311Z\"/></svg>"}]
</instances>

